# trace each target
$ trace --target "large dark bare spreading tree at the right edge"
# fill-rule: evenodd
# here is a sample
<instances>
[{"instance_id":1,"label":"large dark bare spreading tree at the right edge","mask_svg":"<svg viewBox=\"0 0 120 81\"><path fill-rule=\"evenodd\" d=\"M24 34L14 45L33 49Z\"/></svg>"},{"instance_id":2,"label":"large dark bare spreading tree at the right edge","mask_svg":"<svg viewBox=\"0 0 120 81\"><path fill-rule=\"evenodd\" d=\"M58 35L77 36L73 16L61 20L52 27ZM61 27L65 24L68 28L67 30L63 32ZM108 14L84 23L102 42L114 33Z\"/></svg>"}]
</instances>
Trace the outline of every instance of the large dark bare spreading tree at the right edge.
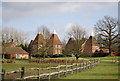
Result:
<instances>
[{"instance_id":1,"label":"large dark bare spreading tree at the right edge","mask_svg":"<svg viewBox=\"0 0 120 81\"><path fill-rule=\"evenodd\" d=\"M95 25L96 38L102 47L109 49L109 54L112 52L112 46L117 43L118 37L118 21L117 19L104 16Z\"/></svg>"}]
</instances>

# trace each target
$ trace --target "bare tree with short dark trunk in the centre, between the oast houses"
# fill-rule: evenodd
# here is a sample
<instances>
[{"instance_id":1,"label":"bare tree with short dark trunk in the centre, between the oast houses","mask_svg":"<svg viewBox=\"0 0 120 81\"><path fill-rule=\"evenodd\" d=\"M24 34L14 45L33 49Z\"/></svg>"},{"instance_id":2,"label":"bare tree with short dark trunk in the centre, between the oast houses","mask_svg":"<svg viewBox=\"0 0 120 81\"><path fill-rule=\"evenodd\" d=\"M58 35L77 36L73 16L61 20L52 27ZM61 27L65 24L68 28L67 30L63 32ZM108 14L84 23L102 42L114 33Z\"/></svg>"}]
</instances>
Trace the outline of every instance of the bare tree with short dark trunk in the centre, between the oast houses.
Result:
<instances>
[{"instance_id":1,"label":"bare tree with short dark trunk in the centre, between the oast houses","mask_svg":"<svg viewBox=\"0 0 120 81\"><path fill-rule=\"evenodd\" d=\"M82 55L81 45L83 44L82 38L85 36L85 30L81 26L73 24L71 30L68 32L68 36L71 37L71 43L66 45L66 52L75 55L76 59Z\"/></svg>"}]
</instances>

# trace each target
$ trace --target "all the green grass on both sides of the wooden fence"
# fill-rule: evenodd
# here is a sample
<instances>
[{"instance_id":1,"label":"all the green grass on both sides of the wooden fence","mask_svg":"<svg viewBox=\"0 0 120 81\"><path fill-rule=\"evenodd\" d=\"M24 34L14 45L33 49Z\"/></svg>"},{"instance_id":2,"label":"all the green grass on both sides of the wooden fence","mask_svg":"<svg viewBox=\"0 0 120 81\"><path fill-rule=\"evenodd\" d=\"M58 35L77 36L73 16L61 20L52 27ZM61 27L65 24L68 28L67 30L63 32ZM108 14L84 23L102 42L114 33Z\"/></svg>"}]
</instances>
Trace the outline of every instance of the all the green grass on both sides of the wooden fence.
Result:
<instances>
[{"instance_id":1,"label":"all the green grass on both sides of the wooden fence","mask_svg":"<svg viewBox=\"0 0 120 81\"><path fill-rule=\"evenodd\" d=\"M118 60L120 57L96 57L96 58L84 58L85 60L89 59L101 59L101 63L90 70L83 71L80 73L75 73L73 75L68 75L67 77L62 77L60 79L118 79L118 63L112 63L112 60ZM47 58L51 59L51 58ZM64 60L75 60L75 58L52 58L52 59L64 59ZM4 63L2 68L7 72L18 70L21 67L25 68L46 68L51 66L58 66L65 63L29 63L28 60L14 60L16 63ZM41 71L42 72L42 71ZM36 74L36 71L31 71L28 73Z\"/></svg>"}]
</instances>

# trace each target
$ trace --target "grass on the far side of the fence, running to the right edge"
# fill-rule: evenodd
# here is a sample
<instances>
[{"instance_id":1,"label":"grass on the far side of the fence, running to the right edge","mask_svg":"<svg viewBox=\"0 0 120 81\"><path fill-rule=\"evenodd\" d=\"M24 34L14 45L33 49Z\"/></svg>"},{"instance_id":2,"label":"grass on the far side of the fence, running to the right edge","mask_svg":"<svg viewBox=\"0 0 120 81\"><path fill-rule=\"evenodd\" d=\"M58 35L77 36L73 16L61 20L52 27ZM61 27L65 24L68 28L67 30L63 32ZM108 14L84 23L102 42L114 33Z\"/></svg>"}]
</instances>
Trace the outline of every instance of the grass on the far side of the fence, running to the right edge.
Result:
<instances>
[{"instance_id":1,"label":"grass on the far side of the fence, running to the right edge","mask_svg":"<svg viewBox=\"0 0 120 81\"><path fill-rule=\"evenodd\" d=\"M84 57L84 59L101 59L101 60L112 60L112 59L120 59L120 57ZM36 58L33 58L36 59ZM76 60L72 57L59 57L59 58L46 58L46 59L66 59L66 60ZM5 59L7 60L7 59ZM14 59L13 59L14 60ZM46 63L29 63L29 60L15 60L15 63L12 64L2 64L2 68L6 69L6 71L18 70L21 67L32 68L32 67L48 67L49 65ZM57 66L58 64L53 63L50 66Z\"/></svg>"}]
</instances>

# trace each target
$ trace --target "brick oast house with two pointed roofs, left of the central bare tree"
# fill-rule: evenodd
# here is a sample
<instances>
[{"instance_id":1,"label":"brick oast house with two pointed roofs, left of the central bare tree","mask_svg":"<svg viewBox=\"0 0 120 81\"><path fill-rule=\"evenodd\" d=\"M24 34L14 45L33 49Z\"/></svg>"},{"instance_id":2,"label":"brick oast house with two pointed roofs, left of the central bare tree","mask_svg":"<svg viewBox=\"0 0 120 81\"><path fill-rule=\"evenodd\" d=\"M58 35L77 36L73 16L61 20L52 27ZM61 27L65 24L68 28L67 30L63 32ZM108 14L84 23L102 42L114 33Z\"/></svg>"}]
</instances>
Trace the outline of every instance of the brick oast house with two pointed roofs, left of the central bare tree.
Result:
<instances>
[{"instance_id":1,"label":"brick oast house with two pointed roofs, left of the central bare tree","mask_svg":"<svg viewBox=\"0 0 120 81\"><path fill-rule=\"evenodd\" d=\"M43 35L38 33L34 40L31 40L29 44L29 52L32 55L38 54L40 48L44 46L46 40L43 38ZM57 55L62 54L62 43L60 39L58 38L56 32L54 32L50 39L47 41L47 47L51 48L49 50L48 55Z\"/></svg>"}]
</instances>

